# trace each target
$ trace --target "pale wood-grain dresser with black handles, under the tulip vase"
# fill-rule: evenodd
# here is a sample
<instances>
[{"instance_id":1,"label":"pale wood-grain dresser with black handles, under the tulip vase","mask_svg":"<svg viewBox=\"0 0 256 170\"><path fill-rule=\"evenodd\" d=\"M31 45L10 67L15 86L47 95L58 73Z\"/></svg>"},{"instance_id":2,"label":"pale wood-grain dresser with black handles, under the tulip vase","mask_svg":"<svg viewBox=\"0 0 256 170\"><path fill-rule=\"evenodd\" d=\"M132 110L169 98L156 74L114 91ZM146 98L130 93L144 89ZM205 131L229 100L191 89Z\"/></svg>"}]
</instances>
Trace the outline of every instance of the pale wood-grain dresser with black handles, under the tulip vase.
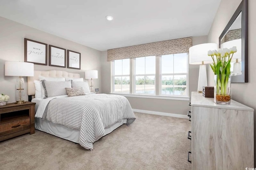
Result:
<instances>
[{"instance_id":1,"label":"pale wood-grain dresser with black handles, under the tulip vase","mask_svg":"<svg viewBox=\"0 0 256 170\"><path fill-rule=\"evenodd\" d=\"M191 94L192 170L245 170L254 167L254 109L234 100L215 104Z\"/></svg>"}]
</instances>

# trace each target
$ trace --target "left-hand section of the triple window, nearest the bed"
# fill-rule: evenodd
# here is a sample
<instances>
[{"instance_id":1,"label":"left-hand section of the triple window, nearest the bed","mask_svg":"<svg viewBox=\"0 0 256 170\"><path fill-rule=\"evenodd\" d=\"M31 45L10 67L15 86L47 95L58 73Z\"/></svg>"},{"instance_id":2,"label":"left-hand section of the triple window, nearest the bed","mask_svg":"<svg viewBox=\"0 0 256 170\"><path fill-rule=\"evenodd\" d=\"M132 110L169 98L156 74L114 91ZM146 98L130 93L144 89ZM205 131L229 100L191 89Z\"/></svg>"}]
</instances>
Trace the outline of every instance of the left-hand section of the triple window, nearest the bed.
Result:
<instances>
[{"instance_id":1,"label":"left-hand section of the triple window, nearest the bed","mask_svg":"<svg viewBox=\"0 0 256 170\"><path fill-rule=\"evenodd\" d=\"M130 93L130 59L114 61L114 92Z\"/></svg>"}]
</instances>

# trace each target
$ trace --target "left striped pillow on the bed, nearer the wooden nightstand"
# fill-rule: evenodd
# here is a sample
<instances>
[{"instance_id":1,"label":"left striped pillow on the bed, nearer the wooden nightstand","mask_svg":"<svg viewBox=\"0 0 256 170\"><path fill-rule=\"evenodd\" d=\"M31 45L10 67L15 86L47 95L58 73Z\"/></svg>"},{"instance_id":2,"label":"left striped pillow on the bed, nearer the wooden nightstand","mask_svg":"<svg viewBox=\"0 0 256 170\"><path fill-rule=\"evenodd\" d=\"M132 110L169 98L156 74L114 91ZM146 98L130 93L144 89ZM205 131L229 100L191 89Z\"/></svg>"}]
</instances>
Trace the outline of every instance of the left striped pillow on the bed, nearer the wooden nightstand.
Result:
<instances>
[{"instance_id":1,"label":"left striped pillow on the bed, nearer the wooden nightstand","mask_svg":"<svg viewBox=\"0 0 256 170\"><path fill-rule=\"evenodd\" d=\"M71 88L71 82L51 82L42 80L42 85L45 88L45 97L67 95L66 88Z\"/></svg>"}]
</instances>

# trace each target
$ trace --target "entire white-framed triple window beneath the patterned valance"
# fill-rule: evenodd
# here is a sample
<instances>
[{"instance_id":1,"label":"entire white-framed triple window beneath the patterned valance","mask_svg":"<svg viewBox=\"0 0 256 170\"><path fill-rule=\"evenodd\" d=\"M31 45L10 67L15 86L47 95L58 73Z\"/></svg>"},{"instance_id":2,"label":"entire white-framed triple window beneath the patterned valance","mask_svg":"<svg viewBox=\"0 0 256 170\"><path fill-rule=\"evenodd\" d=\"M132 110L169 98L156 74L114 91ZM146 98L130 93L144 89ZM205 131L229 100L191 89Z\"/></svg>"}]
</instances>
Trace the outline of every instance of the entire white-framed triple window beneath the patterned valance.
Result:
<instances>
[{"instance_id":1,"label":"entire white-framed triple window beneath the patterned valance","mask_svg":"<svg viewBox=\"0 0 256 170\"><path fill-rule=\"evenodd\" d=\"M112 64L112 92L188 96L188 53L115 60Z\"/></svg>"}]
</instances>

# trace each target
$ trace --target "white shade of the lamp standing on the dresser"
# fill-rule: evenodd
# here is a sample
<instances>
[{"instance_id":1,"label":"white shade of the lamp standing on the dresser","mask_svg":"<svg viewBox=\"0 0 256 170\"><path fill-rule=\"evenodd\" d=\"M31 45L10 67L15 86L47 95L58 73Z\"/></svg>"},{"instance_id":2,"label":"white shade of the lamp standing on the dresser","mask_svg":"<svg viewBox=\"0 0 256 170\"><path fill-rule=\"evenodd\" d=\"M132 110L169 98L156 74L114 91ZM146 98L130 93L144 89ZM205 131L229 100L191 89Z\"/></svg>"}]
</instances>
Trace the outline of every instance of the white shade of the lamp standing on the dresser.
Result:
<instances>
[{"instance_id":1,"label":"white shade of the lamp standing on the dresser","mask_svg":"<svg viewBox=\"0 0 256 170\"><path fill-rule=\"evenodd\" d=\"M212 57L208 56L209 50L217 50L216 43L205 43L194 45L189 48L189 64L204 64L212 63Z\"/></svg>"}]
</instances>

